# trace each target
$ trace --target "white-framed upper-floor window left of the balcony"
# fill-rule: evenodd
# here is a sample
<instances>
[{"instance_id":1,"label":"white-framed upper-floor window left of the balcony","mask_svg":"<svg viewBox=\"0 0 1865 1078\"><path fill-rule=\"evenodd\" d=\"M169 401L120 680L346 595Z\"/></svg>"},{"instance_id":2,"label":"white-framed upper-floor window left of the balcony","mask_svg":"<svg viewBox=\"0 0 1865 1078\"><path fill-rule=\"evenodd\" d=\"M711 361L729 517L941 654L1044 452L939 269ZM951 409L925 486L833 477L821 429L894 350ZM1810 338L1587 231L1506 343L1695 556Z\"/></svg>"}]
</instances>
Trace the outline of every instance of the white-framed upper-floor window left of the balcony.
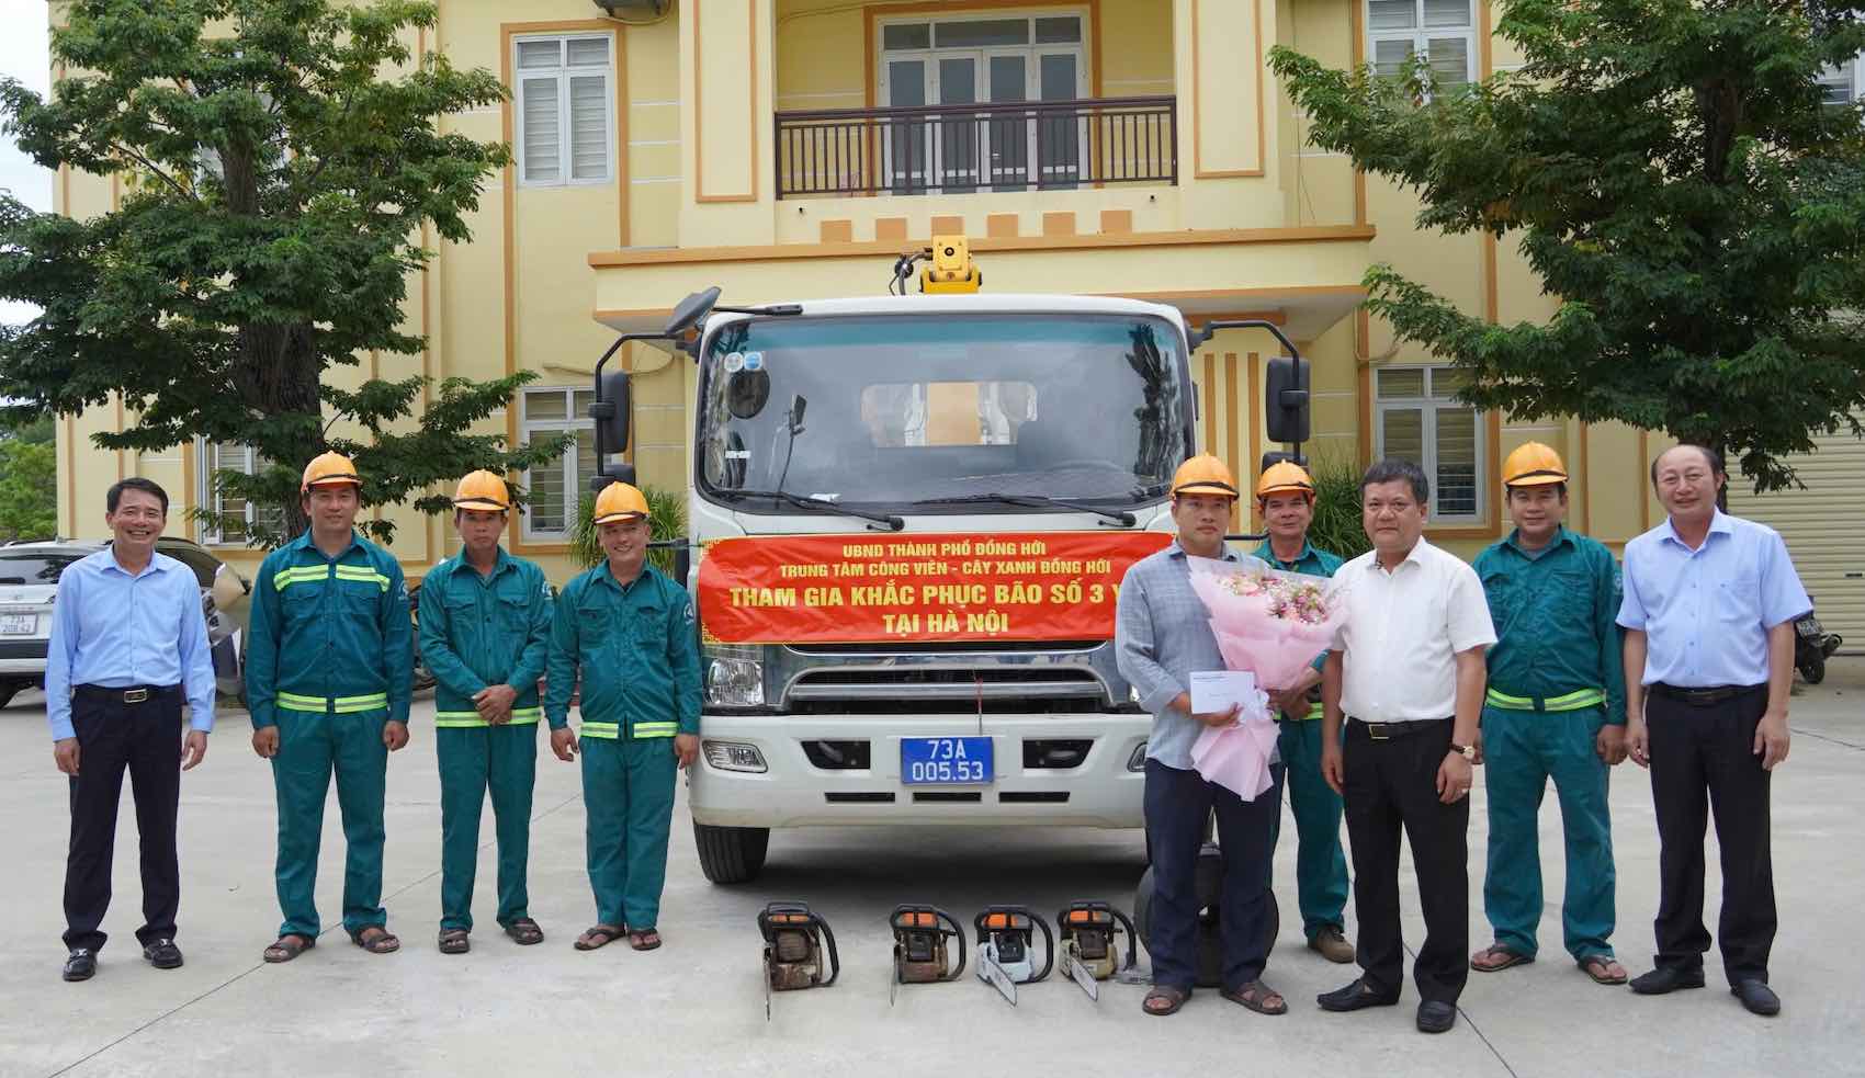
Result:
<instances>
[{"instance_id":1,"label":"white-framed upper-floor window left of the balcony","mask_svg":"<svg viewBox=\"0 0 1865 1078\"><path fill-rule=\"evenodd\" d=\"M520 37L518 183L608 183L615 157L615 93L610 35Z\"/></svg>"}]
</instances>

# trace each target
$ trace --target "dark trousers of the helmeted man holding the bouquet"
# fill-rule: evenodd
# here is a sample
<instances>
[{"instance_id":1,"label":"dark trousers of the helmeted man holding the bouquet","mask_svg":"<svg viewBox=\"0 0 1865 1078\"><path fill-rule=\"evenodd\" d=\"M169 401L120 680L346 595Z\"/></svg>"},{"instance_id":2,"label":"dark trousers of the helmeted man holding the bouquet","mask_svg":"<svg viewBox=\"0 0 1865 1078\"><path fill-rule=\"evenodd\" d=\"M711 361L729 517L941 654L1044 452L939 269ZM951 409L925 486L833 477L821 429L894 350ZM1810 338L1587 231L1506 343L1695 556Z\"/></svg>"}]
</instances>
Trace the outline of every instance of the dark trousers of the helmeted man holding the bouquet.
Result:
<instances>
[{"instance_id":1,"label":"dark trousers of the helmeted man holding the bouquet","mask_svg":"<svg viewBox=\"0 0 1865 1078\"><path fill-rule=\"evenodd\" d=\"M1242 988L1263 977L1268 962L1264 918L1270 895L1274 826L1281 815L1281 765L1270 768L1274 785L1257 800L1205 781L1195 770L1147 759L1147 843L1153 847L1153 983L1192 990L1197 981L1197 850L1205 828L1218 813L1218 847L1223 850L1223 905L1218 933L1223 938L1223 987Z\"/></svg>"}]
</instances>

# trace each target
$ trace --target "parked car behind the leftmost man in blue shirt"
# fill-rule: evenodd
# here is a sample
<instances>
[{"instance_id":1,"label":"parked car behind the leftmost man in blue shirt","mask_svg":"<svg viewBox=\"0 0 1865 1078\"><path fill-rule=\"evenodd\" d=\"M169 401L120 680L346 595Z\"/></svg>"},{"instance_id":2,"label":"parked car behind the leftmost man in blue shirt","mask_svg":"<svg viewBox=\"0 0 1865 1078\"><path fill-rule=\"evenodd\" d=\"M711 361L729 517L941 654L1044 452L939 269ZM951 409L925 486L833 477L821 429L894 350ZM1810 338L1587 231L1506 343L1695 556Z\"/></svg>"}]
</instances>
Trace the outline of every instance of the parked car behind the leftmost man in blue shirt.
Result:
<instances>
[{"instance_id":1,"label":"parked car behind the leftmost man in blue shirt","mask_svg":"<svg viewBox=\"0 0 1865 1078\"><path fill-rule=\"evenodd\" d=\"M45 655L52 636L52 601L58 576L78 558L110 546L108 541L52 539L0 546L0 707L26 688L45 688ZM186 565L201 587L201 614L213 647L214 684L228 696L244 692L239 664L239 629L252 584L200 543L164 535L157 552Z\"/></svg>"}]
</instances>

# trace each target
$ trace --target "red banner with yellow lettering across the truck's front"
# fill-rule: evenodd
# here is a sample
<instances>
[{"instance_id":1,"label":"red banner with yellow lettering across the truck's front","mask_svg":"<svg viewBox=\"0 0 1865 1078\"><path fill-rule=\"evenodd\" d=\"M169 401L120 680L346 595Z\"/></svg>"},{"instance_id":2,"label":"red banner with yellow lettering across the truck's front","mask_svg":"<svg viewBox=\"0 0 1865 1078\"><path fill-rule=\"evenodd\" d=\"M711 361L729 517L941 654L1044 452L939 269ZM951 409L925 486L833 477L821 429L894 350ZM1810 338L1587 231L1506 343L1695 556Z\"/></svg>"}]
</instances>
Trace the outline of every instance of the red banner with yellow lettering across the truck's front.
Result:
<instances>
[{"instance_id":1,"label":"red banner with yellow lettering across the truck's front","mask_svg":"<svg viewBox=\"0 0 1865 1078\"><path fill-rule=\"evenodd\" d=\"M699 625L722 643L1113 640L1126 569L1162 532L720 539Z\"/></svg>"}]
</instances>

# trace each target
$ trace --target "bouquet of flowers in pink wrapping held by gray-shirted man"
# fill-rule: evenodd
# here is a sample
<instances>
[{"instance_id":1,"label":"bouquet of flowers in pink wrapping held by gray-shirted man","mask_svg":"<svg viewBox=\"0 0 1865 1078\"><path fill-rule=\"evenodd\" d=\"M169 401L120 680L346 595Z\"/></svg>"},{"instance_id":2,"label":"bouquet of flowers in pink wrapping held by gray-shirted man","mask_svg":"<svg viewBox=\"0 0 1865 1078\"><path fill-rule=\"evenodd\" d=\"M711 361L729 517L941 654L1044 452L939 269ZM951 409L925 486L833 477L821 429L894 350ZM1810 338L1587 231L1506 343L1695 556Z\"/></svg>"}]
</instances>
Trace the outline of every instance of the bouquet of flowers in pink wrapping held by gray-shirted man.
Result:
<instances>
[{"instance_id":1,"label":"bouquet of flowers in pink wrapping held by gray-shirted man","mask_svg":"<svg viewBox=\"0 0 1865 1078\"><path fill-rule=\"evenodd\" d=\"M1205 729L1192 746L1192 767L1244 800L1270 789L1270 757L1276 722L1261 688L1296 684L1315 656L1333 645L1347 617L1347 602L1332 580L1270 569L1250 558L1244 563L1192 560L1192 591L1210 614L1210 632L1231 670L1257 679L1255 707L1246 705L1238 722Z\"/></svg>"}]
</instances>

